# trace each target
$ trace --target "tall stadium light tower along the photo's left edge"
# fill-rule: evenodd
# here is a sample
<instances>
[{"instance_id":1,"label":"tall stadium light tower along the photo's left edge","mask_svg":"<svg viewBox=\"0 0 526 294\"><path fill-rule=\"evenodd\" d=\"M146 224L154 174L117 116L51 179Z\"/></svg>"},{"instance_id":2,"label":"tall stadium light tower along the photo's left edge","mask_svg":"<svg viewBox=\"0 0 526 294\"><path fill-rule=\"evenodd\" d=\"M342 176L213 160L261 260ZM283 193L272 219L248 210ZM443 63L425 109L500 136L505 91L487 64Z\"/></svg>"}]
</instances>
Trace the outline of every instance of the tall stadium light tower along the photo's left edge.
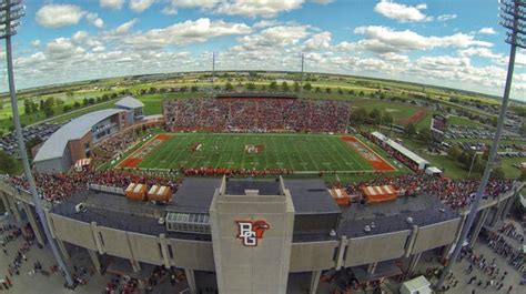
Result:
<instances>
[{"instance_id":1,"label":"tall stadium light tower along the photo's left edge","mask_svg":"<svg viewBox=\"0 0 526 294\"><path fill-rule=\"evenodd\" d=\"M31 166L29 165L28 153L26 152L26 143L23 142L22 128L20 125L20 116L18 113L17 95L14 89L14 75L13 75L13 61L11 51L11 37L17 34L17 28L20 26L20 19L26 14L26 7L22 0L0 0L0 39L6 39L6 57L8 63L8 81L9 81L9 94L11 97L11 107L13 112L13 123L17 133L17 141L19 146L20 156L22 158L23 172L29 182L29 189L33 195L34 209L40 217L40 223L48 239L51 251L53 252L54 258L59 264L62 273L65 277L68 287L73 287L73 280L65 267L62 256L60 255L57 244L51 236L45 221L45 215L42 210L42 203L40 202L39 193L37 192L37 184L34 183L33 175L31 174ZM37 227L34 230L38 230Z\"/></svg>"}]
</instances>

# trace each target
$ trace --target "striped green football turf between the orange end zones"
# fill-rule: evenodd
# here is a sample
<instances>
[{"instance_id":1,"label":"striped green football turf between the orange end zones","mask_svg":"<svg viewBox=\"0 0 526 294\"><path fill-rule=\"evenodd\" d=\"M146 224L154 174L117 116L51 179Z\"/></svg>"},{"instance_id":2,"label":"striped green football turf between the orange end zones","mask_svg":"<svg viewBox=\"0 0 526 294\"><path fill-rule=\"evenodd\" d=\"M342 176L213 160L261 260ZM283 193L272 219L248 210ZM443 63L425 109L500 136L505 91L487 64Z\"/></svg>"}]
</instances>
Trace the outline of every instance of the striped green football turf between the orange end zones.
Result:
<instances>
[{"instance_id":1,"label":"striped green football turf between the orange end zones","mask_svg":"<svg viewBox=\"0 0 526 294\"><path fill-rule=\"evenodd\" d=\"M194 143L202 143L202 150L192 152ZM245 145L251 144L263 145L263 151L249 154ZM139 168L374 171L366 160L337 135L323 134L173 134L150 152Z\"/></svg>"}]
</instances>

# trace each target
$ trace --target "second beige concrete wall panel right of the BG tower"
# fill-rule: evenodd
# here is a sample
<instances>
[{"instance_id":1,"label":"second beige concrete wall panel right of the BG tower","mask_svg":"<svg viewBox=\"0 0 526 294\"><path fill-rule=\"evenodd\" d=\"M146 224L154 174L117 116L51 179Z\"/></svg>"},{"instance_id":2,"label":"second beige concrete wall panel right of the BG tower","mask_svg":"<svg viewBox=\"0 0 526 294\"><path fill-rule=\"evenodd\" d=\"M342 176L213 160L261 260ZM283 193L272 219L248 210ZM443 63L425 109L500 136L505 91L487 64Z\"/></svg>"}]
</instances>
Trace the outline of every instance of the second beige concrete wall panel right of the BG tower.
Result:
<instances>
[{"instance_id":1,"label":"second beige concrete wall panel right of the BG tower","mask_svg":"<svg viewBox=\"0 0 526 294\"><path fill-rule=\"evenodd\" d=\"M411 231L355 237L347 241L344 266L398 258L404 255Z\"/></svg>"}]
</instances>

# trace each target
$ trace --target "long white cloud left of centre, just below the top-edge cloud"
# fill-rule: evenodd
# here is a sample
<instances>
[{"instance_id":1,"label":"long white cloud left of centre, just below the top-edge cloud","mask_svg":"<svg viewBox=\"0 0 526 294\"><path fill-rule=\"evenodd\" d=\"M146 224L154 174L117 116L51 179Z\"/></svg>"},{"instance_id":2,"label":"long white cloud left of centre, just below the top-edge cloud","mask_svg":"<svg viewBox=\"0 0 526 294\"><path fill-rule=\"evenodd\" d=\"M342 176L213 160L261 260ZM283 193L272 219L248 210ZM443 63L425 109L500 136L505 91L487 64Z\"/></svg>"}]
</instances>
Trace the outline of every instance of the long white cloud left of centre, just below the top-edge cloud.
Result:
<instances>
[{"instance_id":1,"label":"long white cloud left of centre, just below the top-edge cloud","mask_svg":"<svg viewBox=\"0 0 526 294\"><path fill-rule=\"evenodd\" d=\"M164 29L153 29L127 36L122 42L138 49L159 49L164 45L184 45L204 42L214 37L246 34L251 29L244 23L211 21L203 18L179 22Z\"/></svg>"}]
</instances>

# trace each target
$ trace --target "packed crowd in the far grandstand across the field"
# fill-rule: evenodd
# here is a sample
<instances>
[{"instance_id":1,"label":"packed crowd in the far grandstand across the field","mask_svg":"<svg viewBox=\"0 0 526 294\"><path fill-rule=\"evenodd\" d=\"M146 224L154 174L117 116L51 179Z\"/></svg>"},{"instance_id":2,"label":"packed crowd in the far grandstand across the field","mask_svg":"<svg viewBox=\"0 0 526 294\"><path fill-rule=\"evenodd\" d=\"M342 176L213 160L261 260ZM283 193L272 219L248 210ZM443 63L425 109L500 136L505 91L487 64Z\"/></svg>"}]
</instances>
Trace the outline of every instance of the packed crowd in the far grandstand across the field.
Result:
<instances>
[{"instance_id":1,"label":"packed crowd in the far grandstand across the field","mask_svg":"<svg viewBox=\"0 0 526 294\"><path fill-rule=\"evenodd\" d=\"M163 113L172 132L345 132L351 115L345 102L293 98L165 100Z\"/></svg>"}]
</instances>

